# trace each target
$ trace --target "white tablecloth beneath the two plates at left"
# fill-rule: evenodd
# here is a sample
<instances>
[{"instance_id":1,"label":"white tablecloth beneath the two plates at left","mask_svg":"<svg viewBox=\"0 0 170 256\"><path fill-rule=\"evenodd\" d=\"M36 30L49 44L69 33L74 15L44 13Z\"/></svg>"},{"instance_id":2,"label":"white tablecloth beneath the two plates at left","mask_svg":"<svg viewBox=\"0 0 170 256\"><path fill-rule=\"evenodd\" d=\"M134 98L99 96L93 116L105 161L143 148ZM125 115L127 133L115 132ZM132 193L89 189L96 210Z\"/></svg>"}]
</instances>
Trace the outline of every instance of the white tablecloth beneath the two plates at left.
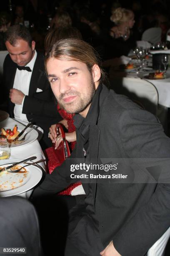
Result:
<instances>
[{"instance_id":1,"label":"white tablecloth beneath the two plates at left","mask_svg":"<svg viewBox=\"0 0 170 256\"><path fill-rule=\"evenodd\" d=\"M0 128L5 127L5 126L10 128L10 127L13 127L15 124L17 124L18 126L21 126L21 123L18 123L13 118L8 118L7 120L0 122ZM35 159L34 161L38 161L40 159L45 159L45 156L42 152L40 144L37 140L33 141L30 144L26 144L24 146L11 148L9 160L26 159L30 156L37 156L37 159ZM6 160L0 160L0 164L5 163L5 161ZM39 163L38 165L40 165L45 170L44 162ZM32 189L30 189L29 191L27 191L25 193L19 194L19 195L22 197L28 198L28 197L30 197L31 192L32 192Z\"/></svg>"}]
</instances>

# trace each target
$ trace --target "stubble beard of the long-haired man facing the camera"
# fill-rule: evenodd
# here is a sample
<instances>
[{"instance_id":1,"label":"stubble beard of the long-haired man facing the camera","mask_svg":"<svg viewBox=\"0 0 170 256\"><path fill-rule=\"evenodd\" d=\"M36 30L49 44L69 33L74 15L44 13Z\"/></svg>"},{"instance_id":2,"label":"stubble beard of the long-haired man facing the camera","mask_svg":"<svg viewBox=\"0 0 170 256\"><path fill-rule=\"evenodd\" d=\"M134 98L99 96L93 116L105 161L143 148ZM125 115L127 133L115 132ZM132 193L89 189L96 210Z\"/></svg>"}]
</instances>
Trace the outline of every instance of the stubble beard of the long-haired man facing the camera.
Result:
<instances>
[{"instance_id":1,"label":"stubble beard of the long-haired man facing the camera","mask_svg":"<svg viewBox=\"0 0 170 256\"><path fill-rule=\"evenodd\" d=\"M57 102L60 105L60 108L64 109L67 111L69 114L76 114L76 113L81 113L84 111L88 105L92 102L92 99L95 95L95 83L91 79L90 86L88 87L89 90L87 91L87 94L81 94L78 91L70 91L68 93L63 93L60 95L60 97L57 99ZM71 96L71 95L77 95L77 99L75 102L71 103L65 103L63 102L63 97L65 96Z\"/></svg>"}]
</instances>

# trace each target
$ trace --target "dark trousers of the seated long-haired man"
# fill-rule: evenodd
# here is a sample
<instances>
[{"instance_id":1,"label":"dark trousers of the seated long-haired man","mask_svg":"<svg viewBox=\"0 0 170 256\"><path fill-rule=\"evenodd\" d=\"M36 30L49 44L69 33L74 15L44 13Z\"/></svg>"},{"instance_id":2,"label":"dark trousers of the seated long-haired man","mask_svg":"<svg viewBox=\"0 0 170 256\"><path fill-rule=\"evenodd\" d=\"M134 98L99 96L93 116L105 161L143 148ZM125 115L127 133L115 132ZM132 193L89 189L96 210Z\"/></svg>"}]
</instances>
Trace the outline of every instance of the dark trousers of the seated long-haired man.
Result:
<instances>
[{"instance_id":1,"label":"dark trousers of the seated long-haired man","mask_svg":"<svg viewBox=\"0 0 170 256\"><path fill-rule=\"evenodd\" d=\"M83 222L79 224L79 221L82 220L82 213L85 211L84 200L81 196L55 195L38 199L34 198L33 204L37 209L40 219L42 247L45 256L100 255L103 246L101 245L98 234L96 235L90 229L88 235L90 236L91 243L89 243L84 233ZM80 227L78 237L82 237L82 239L77 239L75 236L75 228L77 227ZM75 242L72 242L72 238ZM82 243L83 246L81 246Z\"/></svg>"}]
</instances>

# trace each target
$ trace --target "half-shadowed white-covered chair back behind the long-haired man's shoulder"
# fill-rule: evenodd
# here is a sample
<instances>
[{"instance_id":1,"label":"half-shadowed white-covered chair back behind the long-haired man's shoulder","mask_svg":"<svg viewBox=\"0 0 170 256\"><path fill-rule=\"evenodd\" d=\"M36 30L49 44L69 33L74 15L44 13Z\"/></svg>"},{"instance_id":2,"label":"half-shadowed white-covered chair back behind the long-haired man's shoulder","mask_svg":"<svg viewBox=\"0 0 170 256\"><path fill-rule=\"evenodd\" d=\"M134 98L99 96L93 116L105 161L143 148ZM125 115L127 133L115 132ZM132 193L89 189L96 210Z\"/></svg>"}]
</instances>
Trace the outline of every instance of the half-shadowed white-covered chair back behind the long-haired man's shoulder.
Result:
<instances>
[{"instance_id":1,"label":"half-shadowed white-covered chair back behind the long-haired man's shoulder","mask_svg":"<svg viewBox=\"0 0 170 256\"><path fill-rule=\"evenodd\" d=\"M115 92L128 96L145 110L156 115L158 109L158 91L152 83L133 77L116 77L112 82L114 84L112 89Z\"/></svg>"}]
</instances>

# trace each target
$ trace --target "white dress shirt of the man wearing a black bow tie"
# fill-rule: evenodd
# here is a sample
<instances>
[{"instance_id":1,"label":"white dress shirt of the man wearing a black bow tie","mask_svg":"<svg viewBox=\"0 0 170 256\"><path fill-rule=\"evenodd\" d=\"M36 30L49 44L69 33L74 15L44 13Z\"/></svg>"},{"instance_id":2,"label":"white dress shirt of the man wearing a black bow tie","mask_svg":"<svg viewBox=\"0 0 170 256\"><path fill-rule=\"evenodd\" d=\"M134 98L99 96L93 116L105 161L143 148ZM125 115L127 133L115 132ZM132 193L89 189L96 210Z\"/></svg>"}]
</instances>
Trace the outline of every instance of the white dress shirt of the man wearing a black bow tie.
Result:
<instances>
[{"instance_id":1,"label":"white dress shirt of the man wearing a black bow tie","mask_svg":"<svg viewBox=\"0 0 170 256\"><path fill-rule=\"evenodd\" d=\"M35 51L32 60L26 65L26 67L30 67L33 70L35 60L37 58L37 52ZM20 90L23 94L28 95L30 80L31 80L32 72L28 72L27 70L19 70L17 69L14 79L13 88ZM25 97L23 98L23 102ZM17 120L27 121L27 116L23 114L23 102L21 105L15 104L14 107L14 118Z\"/></svg>"}]
</instances>

